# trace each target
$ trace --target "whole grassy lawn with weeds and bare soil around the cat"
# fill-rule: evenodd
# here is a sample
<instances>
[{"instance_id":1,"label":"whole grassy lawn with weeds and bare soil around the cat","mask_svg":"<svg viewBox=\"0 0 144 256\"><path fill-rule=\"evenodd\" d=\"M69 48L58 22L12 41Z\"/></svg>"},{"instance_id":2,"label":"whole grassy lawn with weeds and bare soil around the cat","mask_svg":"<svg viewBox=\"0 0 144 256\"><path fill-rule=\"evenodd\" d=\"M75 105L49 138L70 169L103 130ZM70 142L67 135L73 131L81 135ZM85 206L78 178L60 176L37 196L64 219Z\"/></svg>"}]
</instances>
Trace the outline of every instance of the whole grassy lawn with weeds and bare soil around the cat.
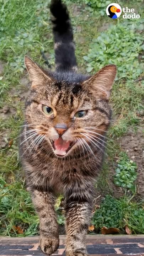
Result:
<instances>
[{"instance_id":1,"label":"whole grassy lawn with weeds and bare soil around the cat","mask_svg":"<svg viewBox=\"0 0 144 256\"><path fill-rule=\"evenodd\" d=\"M54 68L50 0L0 1L0 235L38 234L39 220L18 156L18 135L30 88L24 55ZM112 20L105 14L111 1L65 0L74 28L79 71L95 73L117 65L111 105L106 158L96 183L92 217L94 230L103 226L144 233L144 16L143 1L119 1L134 8L139 19ZM63 196L56 202L58 222L64 224Z\"/></svg>"}]
</instances>

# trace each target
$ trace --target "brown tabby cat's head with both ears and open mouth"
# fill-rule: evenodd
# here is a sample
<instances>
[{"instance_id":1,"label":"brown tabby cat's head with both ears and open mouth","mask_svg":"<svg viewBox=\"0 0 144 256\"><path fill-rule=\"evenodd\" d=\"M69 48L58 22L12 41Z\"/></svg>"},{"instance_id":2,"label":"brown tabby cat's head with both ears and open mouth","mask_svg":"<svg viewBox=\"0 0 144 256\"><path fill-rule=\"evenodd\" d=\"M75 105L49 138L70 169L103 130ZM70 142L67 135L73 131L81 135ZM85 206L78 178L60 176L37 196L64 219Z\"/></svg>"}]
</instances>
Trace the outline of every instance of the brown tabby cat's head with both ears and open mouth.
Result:
<instances>
[{"instance_id":1,"label":"brown tabby cat's head with both ears and open mouth","mask_svg":"<svg viewBox=\"0 0 144 256\"><path fill-rule=\"evenodd\" d=\"M35 143L47 141L58 157L101 148L111 118L108 98L116 66L107 65L81 82L68 82L54 79L28 57L25 64L32 87L25 117L37 133Z\"/></svg>"}]
</instances>

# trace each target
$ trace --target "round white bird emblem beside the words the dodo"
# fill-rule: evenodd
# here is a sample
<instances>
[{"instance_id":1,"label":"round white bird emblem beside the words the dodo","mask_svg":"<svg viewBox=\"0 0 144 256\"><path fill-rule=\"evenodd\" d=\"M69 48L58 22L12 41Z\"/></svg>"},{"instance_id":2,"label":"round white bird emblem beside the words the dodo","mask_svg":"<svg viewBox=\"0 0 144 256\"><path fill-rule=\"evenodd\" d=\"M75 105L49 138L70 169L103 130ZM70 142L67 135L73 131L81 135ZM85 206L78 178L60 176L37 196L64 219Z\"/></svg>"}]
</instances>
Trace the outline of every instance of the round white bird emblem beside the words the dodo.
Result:
<instances>
[{"instance_id":1,"label":"round white bird emblem beside the words the dodo","mask_svg":"<svg viewBox=\"0 0 144 256\"><path fill-rule=\"evenodd\" d=\"M107 6L106 14L110 18L118 18L122 13L122 8L119 4L112 3Z\"/></svg>"}]
</instances>

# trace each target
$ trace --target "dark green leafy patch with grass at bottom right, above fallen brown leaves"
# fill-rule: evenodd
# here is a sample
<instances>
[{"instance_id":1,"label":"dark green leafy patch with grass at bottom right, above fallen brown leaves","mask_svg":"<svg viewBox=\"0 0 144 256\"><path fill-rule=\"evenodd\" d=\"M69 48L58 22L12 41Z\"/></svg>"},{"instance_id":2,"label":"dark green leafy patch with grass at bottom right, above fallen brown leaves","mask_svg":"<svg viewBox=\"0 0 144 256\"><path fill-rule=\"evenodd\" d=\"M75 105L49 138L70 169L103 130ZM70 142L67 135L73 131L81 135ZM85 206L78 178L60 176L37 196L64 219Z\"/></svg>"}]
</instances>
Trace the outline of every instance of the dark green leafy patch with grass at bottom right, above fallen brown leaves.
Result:
<instances>
[{"instance_id":1,"label":"dark green leafy patch with grass at bottom right, above fallen brown leaves","mask_svg":"<svg viewBox=\"0 0 144 256\"><path fill-rule=\"evenodd\" d=\"M143 203L132 202L132 197L119 199L106 195L92 218L95 229L118 228L124 231L127 225L133 233L144 233L144 210Z\"/></svg>"}]
</instances>

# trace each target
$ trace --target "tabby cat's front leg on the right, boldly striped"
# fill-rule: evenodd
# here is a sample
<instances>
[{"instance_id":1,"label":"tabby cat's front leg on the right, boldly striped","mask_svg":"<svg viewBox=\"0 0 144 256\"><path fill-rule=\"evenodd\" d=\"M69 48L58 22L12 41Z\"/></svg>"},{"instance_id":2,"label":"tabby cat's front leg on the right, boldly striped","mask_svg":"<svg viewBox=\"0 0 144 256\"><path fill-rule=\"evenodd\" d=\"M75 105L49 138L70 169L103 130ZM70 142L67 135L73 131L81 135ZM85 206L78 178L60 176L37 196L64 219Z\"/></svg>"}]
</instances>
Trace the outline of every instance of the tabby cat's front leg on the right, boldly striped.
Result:
<instances>
[{"instance_id":1,"label":"tabby cat's front leg on the right, boldly striped","mask_svg":"<svg viewBox=\"0 0 144 256\"><path fill-rule=\"evenodd\" d=\"M83 198L83 199L82 199ZM86 234L90 224L92 202L86 196L65 199L66 256L86 256Z\"/></svg>"}]
</instances>

